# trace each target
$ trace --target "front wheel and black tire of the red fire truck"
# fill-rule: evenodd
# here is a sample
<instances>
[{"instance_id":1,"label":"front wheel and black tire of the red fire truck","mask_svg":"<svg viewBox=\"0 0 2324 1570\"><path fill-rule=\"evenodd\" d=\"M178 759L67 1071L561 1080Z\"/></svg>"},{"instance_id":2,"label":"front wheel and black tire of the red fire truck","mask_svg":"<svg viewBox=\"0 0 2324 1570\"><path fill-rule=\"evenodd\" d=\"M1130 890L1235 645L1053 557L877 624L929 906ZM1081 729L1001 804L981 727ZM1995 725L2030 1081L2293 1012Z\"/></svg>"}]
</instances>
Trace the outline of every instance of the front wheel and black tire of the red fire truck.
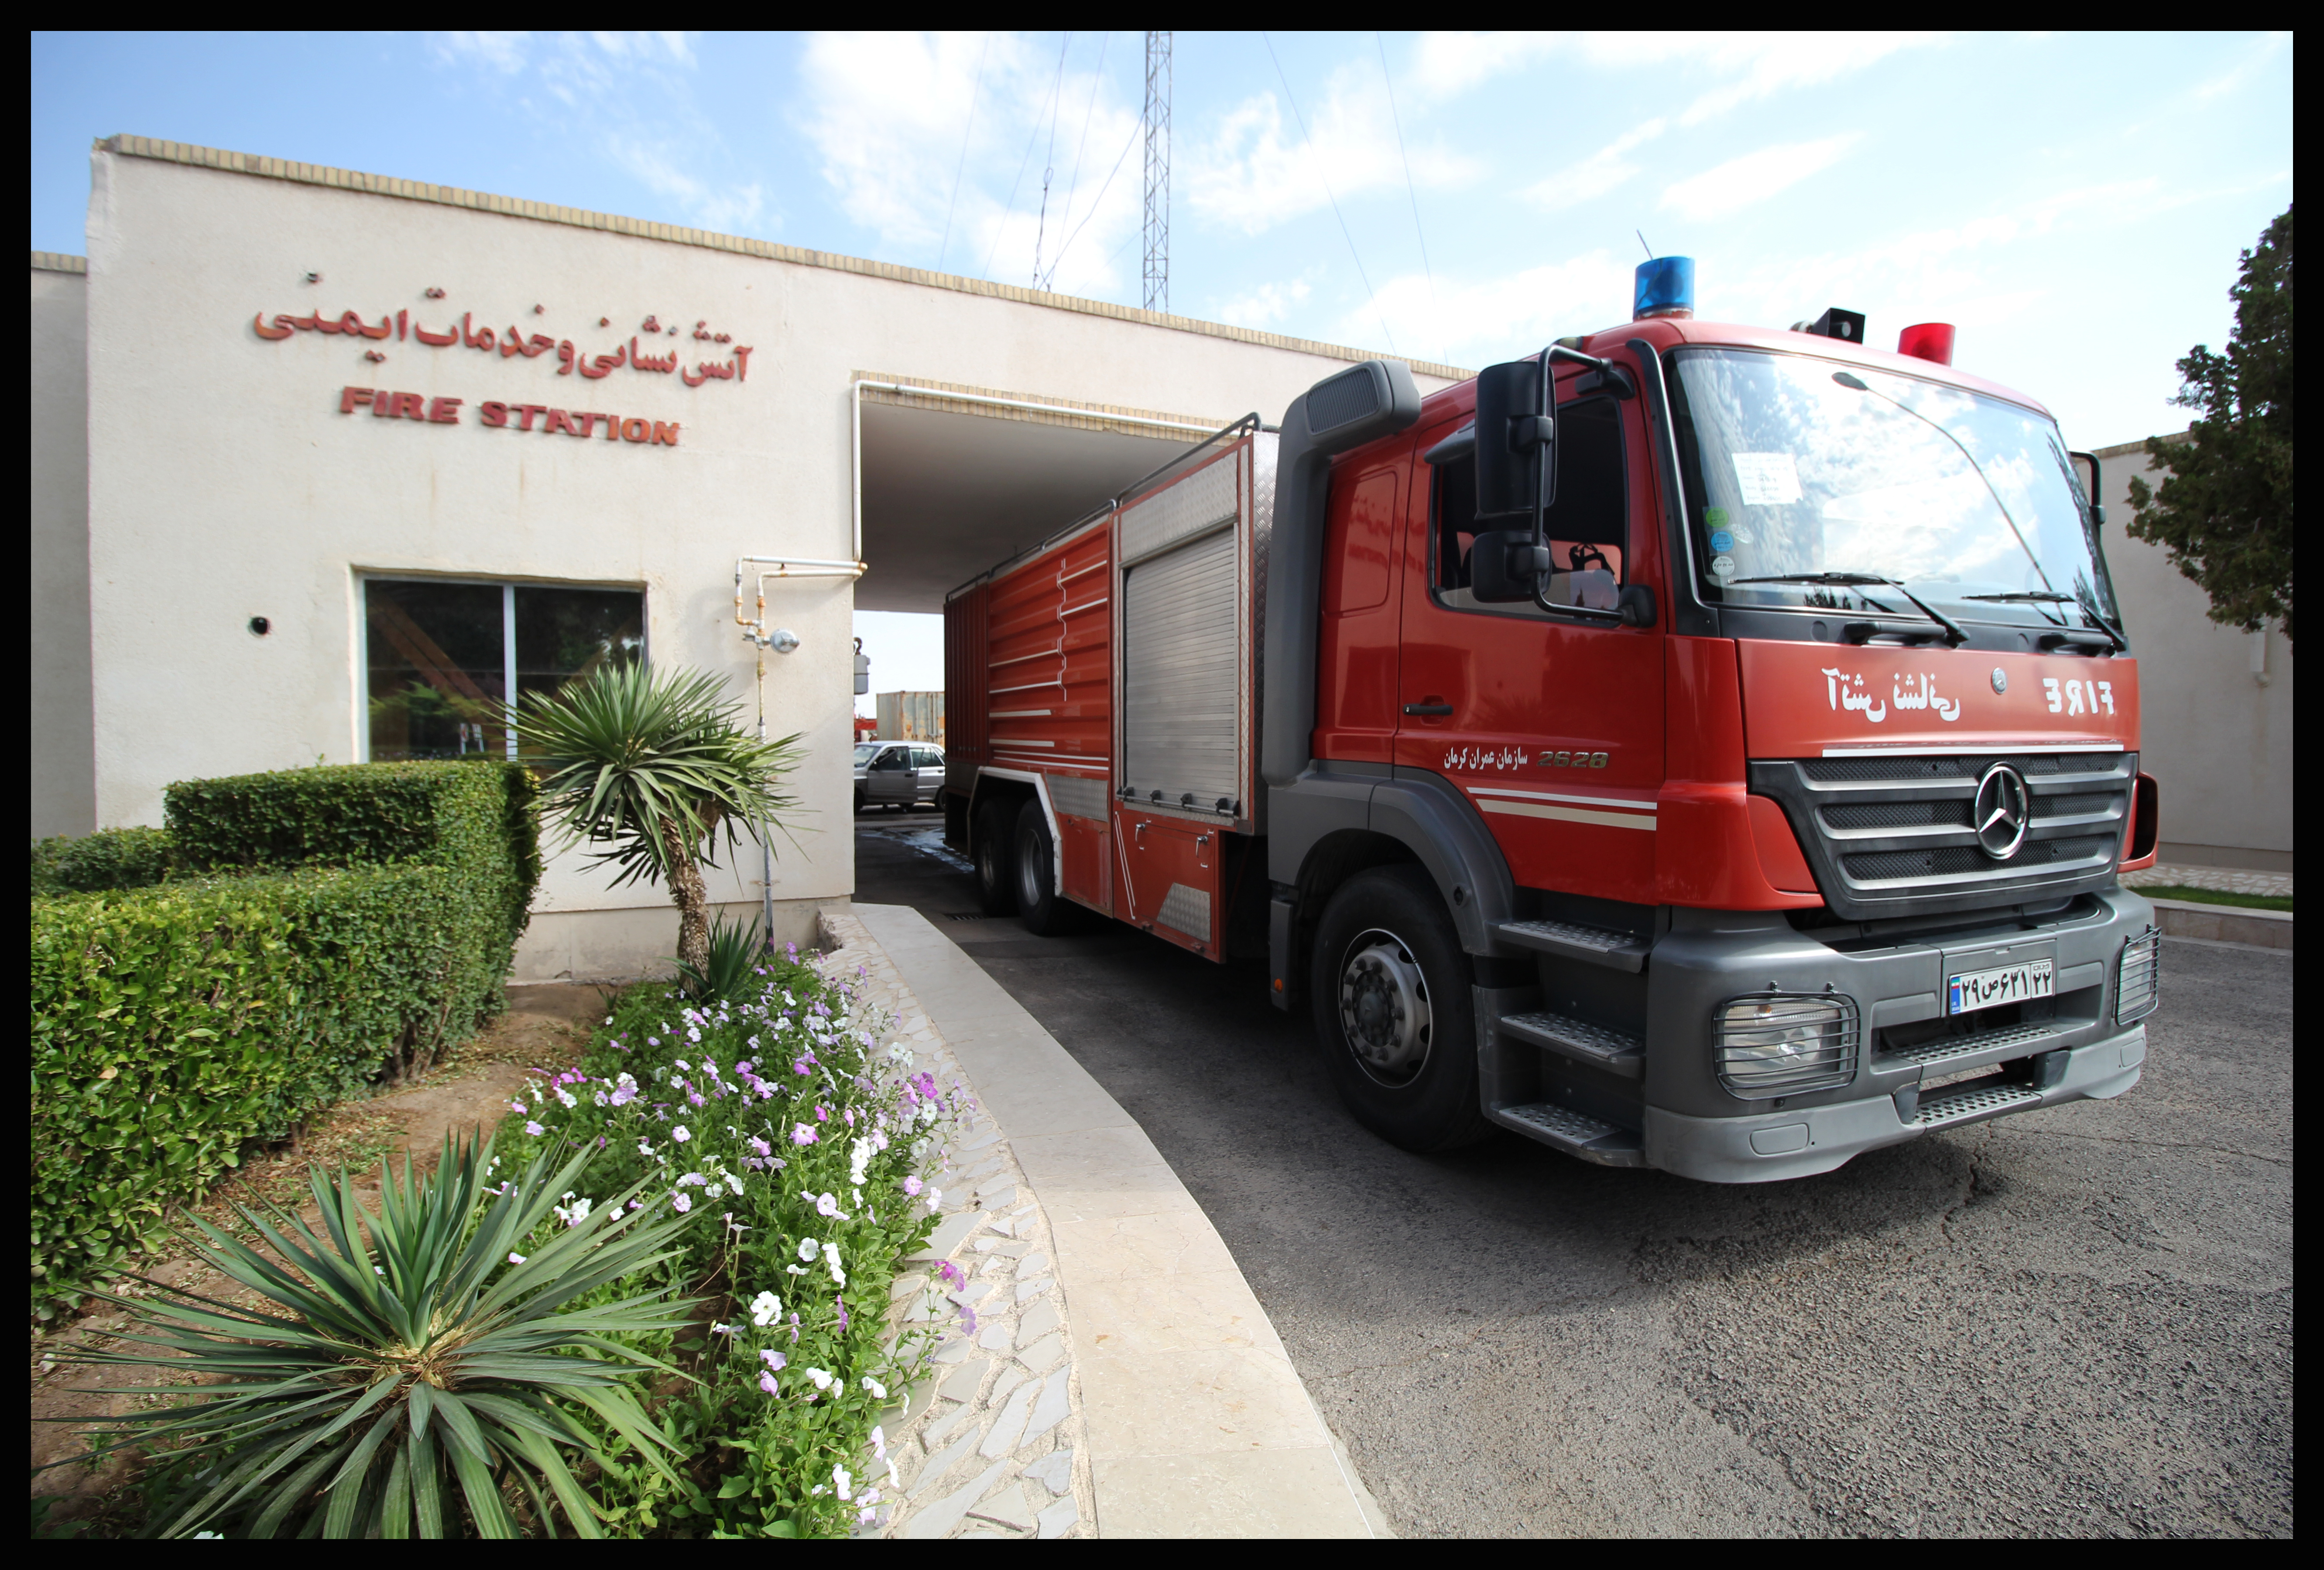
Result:
<instances>
[{"instance_id":1,"label":"front wheel and black tire of the red fire truck","mask_svg":"<svg viewBox=\"0 0 2324 1570\"><path fill-rule=\"evenodd\" d=\"M1434 1152L1492 1133L1478 1106L1469 957L1418 866L1376 866L1332 894L1308 957L1325 1073L1360 1124Z\"/></svg>"}]
</instances>

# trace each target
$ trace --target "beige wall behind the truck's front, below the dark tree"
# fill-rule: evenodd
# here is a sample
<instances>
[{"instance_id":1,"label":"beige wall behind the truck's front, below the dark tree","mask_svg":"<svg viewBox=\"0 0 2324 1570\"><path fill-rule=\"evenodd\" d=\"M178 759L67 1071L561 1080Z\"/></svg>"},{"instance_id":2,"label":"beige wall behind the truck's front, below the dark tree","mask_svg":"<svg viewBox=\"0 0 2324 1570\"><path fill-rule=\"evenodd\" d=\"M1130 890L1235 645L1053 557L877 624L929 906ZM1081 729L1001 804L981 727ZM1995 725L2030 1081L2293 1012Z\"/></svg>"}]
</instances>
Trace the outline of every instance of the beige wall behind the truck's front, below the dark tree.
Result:
<instances>
[{"instance_id":1,"label":"beige wall behind the truck's front, below the dark tree","mask_svg":"<svg viewBox=\"0 0 2324 1570\"><path fill-rule=\"evenodd\" d=\"M2164 797L2164 859L2291 871L2291 646L2210 620L2210 597L2161 546L2124 534L2143 441L2099 448L2106 567L2138 655L2138 766Z\"/></svg>"}]
</instances>

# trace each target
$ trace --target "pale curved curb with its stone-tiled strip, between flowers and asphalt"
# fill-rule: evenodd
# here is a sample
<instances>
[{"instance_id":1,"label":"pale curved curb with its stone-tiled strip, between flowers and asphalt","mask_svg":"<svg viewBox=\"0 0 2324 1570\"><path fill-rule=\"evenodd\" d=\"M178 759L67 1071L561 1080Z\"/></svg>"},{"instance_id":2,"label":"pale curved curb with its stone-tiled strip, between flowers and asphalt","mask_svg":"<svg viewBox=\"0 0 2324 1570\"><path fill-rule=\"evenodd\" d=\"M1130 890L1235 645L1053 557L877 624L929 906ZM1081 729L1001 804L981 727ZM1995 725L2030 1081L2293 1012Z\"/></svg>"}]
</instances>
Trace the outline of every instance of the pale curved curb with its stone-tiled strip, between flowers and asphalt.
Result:
<instances>
[{"instance_id":1,"label":"pale curved curb with its stone-tiled strip, between flowers and asphalt","mask_svg":"<svg viewBox=\"0 0 2324 1570\"><path fill-rule=\"evenodd\" d=\"M964 1268L974 1261L971 1289L983 1289L978 1340L1004 1315L1013 1324L1006 1347L971 1349L953 1333L939 1352L955 1370L976 1356L995 1368L939 1377L934 1400L913 1396L897 1428L902 1442L890 1442L906 1503L888 1535L999 1531L1004 1521L990 1517L1009 1517L1006 1493L1032 1496L1018 1505L1023 1514L1050 1489L1053 1470L1071 1475L1069 1535L1387 1535L1227 1245L1113 1096L920 913L858 903L825 915L825 924L846 950L844 964L865 964L899 1001L909 996L909 1013L902 1003L897 1010L920 1024L902 1036L916 1052L941 1045L939 1057L948 1052L960 1066L990 1119L957 1140L955 1164L974 1173L997 1161L971 1182L1018 1189L1009 1201L995 1196L990 1210L953 1215L937 1236ZM1002 1138L983 1145L985 1133ZM992 1219L1009 1222L1009 1233L992 1231ZM1020 1243L1030 1245L1023 1259L1002 1252ZM1041 1277L1023 1270L1037 1252L1055 1261L1046 1289L1032 1289ZM1030 1291L1023 1310L1018 1291ZM1057 1315L1064 1363L1039 1373L1020 1356L1048 1340L1048 1321L1034 1319L1043 1312ZM1027 1324L1039 1333L1027 1335ZM1020 1342L1030 1342L1023 1354ZM988 1456L990 1435L1009 1428L1018 1405L1027 1410L1016 1421L1032 1426L1060 1375L1067 1414L1030 1447L995 1447ZM944 1391L955 1377L974 1391L948 1405ZM964 1447L969 1428L988 1438ZM1032 1449L1071 1449L1071 1461L1043 1461ZM923 1456L932 1459L923 1465ZM981 1463L967 1465L969 1456ZM932 1470L939 1463L941 1475ZM1034 1484L1018 1482L1027 1475ZM1067 1489L1053 1491L1062 1507ZM955 1500L960 1510L941 1521L937 1512ZM981 1510L988 1503L995 1510ZM1009 1521L1004 1535L1032 1528Z\"/></svg>"}]
</instances>

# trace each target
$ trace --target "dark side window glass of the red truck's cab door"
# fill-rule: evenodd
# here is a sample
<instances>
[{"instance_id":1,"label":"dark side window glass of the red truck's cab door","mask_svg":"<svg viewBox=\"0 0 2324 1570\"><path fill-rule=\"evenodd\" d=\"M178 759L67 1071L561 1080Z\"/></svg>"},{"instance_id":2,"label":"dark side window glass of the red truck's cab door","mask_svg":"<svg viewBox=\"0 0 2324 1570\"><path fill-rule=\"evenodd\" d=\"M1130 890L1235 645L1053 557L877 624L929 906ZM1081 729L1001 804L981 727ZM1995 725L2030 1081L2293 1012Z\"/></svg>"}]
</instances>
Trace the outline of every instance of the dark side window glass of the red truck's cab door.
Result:
<instances>
[{"instance_id":1,"label":"dark side window glass of the red truck's cab door","mask_svg":"<svg viewBox=\"0 0 2324 1570\"><path fill-rule=\"evenodd\" d=\"M1478 604L1469 595L1469 550L1483 530L1522 530L1525 518L1476 516L1476 458L1439 464L1432 492L1436 602L1457 611L1545 615L1534 604ZM1613 608L1629 546L1629 490L1622 409L1592 397L1557 409L1557 495L1548 513L1550 602Z\"/></svg>"}]
</instances>

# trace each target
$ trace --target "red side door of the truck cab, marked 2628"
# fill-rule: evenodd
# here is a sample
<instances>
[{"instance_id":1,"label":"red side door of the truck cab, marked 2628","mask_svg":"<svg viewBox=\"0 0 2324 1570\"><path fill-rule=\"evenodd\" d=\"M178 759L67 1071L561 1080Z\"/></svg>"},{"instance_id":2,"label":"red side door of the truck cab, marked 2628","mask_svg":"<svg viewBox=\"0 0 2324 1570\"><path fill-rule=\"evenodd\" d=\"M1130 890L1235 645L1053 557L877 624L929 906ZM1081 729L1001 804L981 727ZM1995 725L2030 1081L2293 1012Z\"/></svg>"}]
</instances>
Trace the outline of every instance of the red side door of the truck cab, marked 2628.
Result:
<instances>
[{"instance_id":1,"label":"red side door of the truck cab, marked 2628","mask_svg":"<svg viewBox=\"0 0 2324 1570\"><path fill-rule=\"evenodd\" d=\"M1464 416L1422 430L1418 453ZM1659 571L1638 399L1557 404L1550 599L1611 606ZM1520 887L1652 903L1664 778L1664 639L1469 592L1476 458L1413 464L1404 509L1404 657L1394 762L1448 778Z\"/></svg>"}]
</instances>

